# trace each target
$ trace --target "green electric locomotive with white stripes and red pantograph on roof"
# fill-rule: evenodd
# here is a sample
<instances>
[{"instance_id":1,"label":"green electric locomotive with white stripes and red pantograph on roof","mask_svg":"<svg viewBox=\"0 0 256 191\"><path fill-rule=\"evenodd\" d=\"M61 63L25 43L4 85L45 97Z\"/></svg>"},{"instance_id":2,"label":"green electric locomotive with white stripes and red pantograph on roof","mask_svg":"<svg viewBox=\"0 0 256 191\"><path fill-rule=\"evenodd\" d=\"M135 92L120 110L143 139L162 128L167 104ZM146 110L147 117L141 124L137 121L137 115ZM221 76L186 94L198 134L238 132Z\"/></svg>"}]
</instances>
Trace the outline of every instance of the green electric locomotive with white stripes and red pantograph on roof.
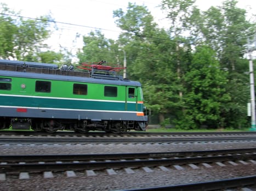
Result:
<instances>
[{"instance_id":1,"label":"green electric locomotive with white stripes and red pantograph on roof","mask_svg":"<svg viewBox=\"0 0 256 191\"><path fill-rule=\"evenodd\" d=\"M119 133L146 126L139 82L0 59L1 129Z\"/></svg>"}]
</instances>

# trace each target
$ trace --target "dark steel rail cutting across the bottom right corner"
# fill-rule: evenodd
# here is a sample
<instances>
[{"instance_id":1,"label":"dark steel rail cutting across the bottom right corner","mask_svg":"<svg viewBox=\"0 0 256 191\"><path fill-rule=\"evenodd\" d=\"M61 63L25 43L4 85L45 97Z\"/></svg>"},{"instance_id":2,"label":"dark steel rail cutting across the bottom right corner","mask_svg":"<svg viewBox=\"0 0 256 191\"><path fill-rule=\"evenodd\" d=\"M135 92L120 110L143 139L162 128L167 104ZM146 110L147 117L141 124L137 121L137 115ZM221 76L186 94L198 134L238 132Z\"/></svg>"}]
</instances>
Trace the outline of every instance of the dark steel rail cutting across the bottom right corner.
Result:
<instances>
[{"instance_id":1,"label":"dark steel rail cutting across the bottom right corner","mask_svg":"<svg viewBox=\"0 0 256 191\"><path fill-rule=\"evenodd\" d=\"M210 190L224 190L228 188L237 188L244 186L252 186L256 184L256 175L244 176L237 178L229 178L225 180L197 182L189 184L177 184L173 186L152 187L152 188L138 188L138 189L123 189L119 191L210 191Z\"/></svg>"}]
</instances>

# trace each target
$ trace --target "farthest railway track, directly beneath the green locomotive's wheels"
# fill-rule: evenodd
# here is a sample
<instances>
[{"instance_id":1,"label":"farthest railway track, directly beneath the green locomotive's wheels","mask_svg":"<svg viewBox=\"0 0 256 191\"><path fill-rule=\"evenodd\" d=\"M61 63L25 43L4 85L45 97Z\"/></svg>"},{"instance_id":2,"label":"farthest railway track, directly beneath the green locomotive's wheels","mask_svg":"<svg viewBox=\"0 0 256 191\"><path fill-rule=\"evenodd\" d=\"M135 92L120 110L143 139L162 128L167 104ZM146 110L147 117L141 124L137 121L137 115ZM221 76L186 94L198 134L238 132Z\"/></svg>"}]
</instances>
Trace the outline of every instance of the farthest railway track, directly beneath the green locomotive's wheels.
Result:
<instances>
[{"instance_id":1,"label":"farthest railway track, directly beneath the green locomotive's wheels","mask_svg":"<svg viewBox=\"0 0 256 191\"><path fill-rule=\"evenodd\" d=\"M255 141L256 133L56 133L36 134L35 132L1 132L0 144L86 144L86 143L172 143L172 142L218 142Z\"/></svg>"}]
</instances>

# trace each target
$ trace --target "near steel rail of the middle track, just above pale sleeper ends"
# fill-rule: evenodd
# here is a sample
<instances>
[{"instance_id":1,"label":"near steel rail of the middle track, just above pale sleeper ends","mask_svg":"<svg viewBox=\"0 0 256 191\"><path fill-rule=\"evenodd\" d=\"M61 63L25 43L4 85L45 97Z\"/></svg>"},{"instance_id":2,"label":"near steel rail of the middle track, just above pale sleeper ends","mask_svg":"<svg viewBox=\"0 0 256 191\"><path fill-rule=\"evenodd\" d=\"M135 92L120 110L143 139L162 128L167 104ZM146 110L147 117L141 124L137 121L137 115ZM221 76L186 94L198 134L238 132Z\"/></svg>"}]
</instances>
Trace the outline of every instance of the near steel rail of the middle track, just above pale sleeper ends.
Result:
<instances>
[{"instance_id":1,"label":"near steel rail of the middle track, just above pale sleeper ends","mask_svg":"<svg viewBox=\"0 0 256 191\"><path fill-rule=\"evenodd\" d=\"M144 159L144 160L118 160L104 162L81 162L81 163L31 163L31 164L0 164L0 173L7 172L31 172L31 171L65 171L65 170L102 170L110 168L130 168L141 166L169 166L198 163L213 163L223 161L255 159L256 154L208 156L173 159Z\"/></svg>"}]
</instances>

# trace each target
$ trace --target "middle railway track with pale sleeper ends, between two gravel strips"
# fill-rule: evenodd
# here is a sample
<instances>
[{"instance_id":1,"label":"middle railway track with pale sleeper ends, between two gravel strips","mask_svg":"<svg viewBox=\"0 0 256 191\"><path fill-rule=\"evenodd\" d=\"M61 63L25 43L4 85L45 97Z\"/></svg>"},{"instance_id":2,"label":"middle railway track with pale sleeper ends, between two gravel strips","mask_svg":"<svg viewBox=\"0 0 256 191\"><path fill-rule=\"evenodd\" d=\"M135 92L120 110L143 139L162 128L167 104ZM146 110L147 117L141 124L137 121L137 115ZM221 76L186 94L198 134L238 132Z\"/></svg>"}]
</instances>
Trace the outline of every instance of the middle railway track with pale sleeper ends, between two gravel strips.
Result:
<instances>
[{"instance_id":1,"label":"middle railway track with pale sleeper ends, between two gravel strips","mask_svg":"<svg viewBox=\"0 0 256 191\"><path fill-rule=\"evenodd\" d=\"M9 172L43 172L67 170L103 170L120 168L143 168L166 166L179 168L180 165L195 164L211 166L208 163L234 161L240 164L256 164L256 149L216 150L197 152L164 152L164 153L121 153L121 154L68 154L68 155L29 155L0 156L0 174ZM75 161L75 162L74 162ZM181 168L181 167L180 167ZM130 169L132 171L132 169Z\"/></svg>"}]
</instances>

